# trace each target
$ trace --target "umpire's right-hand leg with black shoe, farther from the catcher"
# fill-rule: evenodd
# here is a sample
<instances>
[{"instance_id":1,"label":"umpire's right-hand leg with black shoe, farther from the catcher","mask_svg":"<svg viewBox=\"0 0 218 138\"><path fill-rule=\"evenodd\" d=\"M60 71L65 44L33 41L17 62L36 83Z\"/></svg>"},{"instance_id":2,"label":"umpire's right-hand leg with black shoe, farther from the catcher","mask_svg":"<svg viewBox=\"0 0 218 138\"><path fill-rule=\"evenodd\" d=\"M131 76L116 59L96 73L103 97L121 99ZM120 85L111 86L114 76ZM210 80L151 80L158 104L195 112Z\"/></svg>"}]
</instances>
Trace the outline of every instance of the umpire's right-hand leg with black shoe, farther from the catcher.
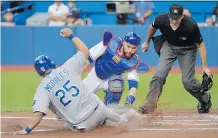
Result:
<instances>
[{"instance_id":1,"label":"umpire's right-hand leg with black shoe, farther from the catcher","mask_svg":"<svg viewBox=\"0 0 218 138\"><path fill-rule=\"evenodd\" d=\"M178 61L182 70L182 82L184 88L199 101L198 112L208 113L212 106L210 93L202 89L201 83L194 76L196 54L197 49L179 51Z\"/></svg>"}]
</instances>

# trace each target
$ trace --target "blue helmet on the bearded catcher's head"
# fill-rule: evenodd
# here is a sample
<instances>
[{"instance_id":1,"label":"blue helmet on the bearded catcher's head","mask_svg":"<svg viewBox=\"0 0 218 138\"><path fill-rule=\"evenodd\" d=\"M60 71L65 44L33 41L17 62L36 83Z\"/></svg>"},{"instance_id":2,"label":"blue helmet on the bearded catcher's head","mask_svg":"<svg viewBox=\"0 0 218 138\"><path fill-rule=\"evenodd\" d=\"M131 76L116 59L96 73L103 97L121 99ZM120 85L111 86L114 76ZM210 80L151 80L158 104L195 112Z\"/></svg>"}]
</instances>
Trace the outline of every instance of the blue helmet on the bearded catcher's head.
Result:
<instances>
[{"instance_id":1,"label":"blue helmet on the bearded catcher's head","mask_svg":"<svg viewBox=\"0 0 218 138\"><path fill-rule=\"evenodd\" d=\"M129 44L139 46L139 44L141 42L141 37L136 33L129 32L126 34L124 40Z\"/></svg>"}]
</instances>

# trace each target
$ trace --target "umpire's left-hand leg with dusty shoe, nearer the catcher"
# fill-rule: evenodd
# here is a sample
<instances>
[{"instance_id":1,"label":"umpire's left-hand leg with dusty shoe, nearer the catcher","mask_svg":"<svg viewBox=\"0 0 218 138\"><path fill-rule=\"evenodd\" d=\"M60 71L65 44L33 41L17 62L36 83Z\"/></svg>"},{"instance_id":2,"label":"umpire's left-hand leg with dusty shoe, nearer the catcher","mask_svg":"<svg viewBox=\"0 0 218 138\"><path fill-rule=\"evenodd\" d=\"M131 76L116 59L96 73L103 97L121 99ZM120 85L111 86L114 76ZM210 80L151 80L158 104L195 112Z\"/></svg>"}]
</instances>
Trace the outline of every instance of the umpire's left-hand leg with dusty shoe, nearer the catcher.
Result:
<instances>
[{"instance_id":1,"label":"umpire's left-hand leg with dusty shoe, nearer the catcher","mask_svg":"<svg viewBox=\"0 0 218 138\"><path fill-rule=\"evenodd\" d=\"M169 71L172 68L173 62L176 60L176 54L167 42L161 48L159 63L155 69L154 76L150 82L150 90L146 96L146 103L140 107L139 112L149 113L153 112L157 107L157 101L161 95L163 85Z\"/></svg>"}]
</instances>

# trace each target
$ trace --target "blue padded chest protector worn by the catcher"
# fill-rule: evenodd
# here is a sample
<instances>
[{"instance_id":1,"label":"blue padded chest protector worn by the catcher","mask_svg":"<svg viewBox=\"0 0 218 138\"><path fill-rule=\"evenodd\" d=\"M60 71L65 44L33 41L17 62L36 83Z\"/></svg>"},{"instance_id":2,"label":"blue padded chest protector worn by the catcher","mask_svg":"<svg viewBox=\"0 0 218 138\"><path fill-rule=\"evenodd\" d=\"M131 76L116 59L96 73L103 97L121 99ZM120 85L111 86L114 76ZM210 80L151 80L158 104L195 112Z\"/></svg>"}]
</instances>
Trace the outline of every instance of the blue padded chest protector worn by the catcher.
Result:
<instances>
[{"instance_id":1,"label":"blue padded chest protector worn by the catcher","mask_svg":"<svg viewBox=\"0 0 218 138\"><path fill-rule=\"evenodd\" d=\"M108 79L114 74L122 74L138 64L137 55L129 59L118 55L117 51L121 45L121 38L112 38L105 53L96 60L95 71L100 79Z\"/></svg>"}]
</instances>

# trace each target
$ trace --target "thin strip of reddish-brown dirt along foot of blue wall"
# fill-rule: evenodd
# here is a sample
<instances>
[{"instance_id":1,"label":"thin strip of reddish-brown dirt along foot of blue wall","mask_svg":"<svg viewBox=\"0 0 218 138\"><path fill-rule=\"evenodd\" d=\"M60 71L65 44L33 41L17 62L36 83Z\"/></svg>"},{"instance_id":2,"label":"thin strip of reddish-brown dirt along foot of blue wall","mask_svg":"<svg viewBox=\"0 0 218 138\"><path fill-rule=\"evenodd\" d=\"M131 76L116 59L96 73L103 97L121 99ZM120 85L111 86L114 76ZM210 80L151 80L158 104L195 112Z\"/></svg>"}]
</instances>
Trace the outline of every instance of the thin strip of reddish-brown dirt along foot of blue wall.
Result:
<instances>
[{"instance_id":1,"label":"thin strip of reddish-brown dirt along foot of blue wall","mask_svg":"<svg viewBox=\"0 0 218 138\"><path fill-rule=\"evenodd\" d=\"M149 72L147 73L152 73L154 71L155 67L150 67ZM210 67L211 71L213 74L218 74L218 67ZM88 68L86 71L90 71L91 67ZM1 71L20 71L20 72L32 72L35 71L33 66L1 66ZM180 67L173 67L170 73L181 73ZM201 73L201 68L196 67L196 73Z\"/></svg>"}]
</instances>

